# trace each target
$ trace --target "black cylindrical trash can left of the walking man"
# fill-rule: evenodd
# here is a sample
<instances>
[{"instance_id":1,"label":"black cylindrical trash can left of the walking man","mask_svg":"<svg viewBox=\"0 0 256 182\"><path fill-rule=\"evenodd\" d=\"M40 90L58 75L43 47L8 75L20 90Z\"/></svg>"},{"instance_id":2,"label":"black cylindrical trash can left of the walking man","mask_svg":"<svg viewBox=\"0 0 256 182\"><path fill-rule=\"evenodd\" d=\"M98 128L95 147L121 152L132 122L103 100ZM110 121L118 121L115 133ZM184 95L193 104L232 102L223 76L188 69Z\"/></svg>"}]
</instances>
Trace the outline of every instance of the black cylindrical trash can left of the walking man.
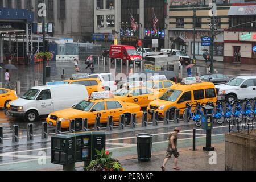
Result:
<instances>
[{"instance_id":1,"label":"black cylindrical trash can left of the walking man","mask_svg":"<svg viewBox=\"0 0 256 182\"><path fill-rule=\"evenodd\" d=\"M139 161L147 162L151 160L152 137L153 135L151 134L137 135L137 152Z\"/></svg>"}]
</instances>

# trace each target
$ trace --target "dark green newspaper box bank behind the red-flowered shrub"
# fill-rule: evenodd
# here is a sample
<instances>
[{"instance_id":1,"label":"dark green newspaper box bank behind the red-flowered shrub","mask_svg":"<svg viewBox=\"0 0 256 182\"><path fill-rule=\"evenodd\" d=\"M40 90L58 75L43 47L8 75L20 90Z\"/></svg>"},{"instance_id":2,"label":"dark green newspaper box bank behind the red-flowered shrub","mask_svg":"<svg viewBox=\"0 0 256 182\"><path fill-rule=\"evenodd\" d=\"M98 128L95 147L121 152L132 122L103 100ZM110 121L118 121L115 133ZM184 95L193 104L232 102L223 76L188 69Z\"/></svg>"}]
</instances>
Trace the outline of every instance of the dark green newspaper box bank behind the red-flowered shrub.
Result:
<instances>
[{"instance_id":1,"label":"dark green newspaper box bank behind the red-flowered shrub","mask_svg":"<svg viewBox=\"0 0 256 182\"><path fill-rule=\"evenodd\" d=\"M63 165L67 171L75 170L76 162L84 162L87 167L96 159L96 149L105 150L104 132L83 132L60 134L51 137L51 163Z\"/></svg>"}]
</instances>

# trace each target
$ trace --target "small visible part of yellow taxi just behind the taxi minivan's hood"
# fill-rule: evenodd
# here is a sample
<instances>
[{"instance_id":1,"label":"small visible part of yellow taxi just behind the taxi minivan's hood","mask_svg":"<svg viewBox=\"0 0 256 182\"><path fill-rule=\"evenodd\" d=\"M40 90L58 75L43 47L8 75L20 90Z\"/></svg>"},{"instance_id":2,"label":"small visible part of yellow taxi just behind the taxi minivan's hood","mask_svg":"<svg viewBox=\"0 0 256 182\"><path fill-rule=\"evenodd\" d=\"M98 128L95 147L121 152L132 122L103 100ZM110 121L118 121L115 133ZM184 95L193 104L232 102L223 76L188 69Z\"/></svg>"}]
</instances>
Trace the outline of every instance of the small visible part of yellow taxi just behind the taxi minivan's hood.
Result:
<instances>
[{"instance_id":1,"label":"small visible part of yellow taxi just behind the taxi minivan's hood","mask_svg":"<svg viewBox=\"0 0 256 182\"><path fill-rule=\"evenodd\" d=\"M166 92L174 85L175 82L167 80L165 75L152 76L150 81L146 81L147 88L154 89L158 92Z\"/></svg>"}]
</instances>

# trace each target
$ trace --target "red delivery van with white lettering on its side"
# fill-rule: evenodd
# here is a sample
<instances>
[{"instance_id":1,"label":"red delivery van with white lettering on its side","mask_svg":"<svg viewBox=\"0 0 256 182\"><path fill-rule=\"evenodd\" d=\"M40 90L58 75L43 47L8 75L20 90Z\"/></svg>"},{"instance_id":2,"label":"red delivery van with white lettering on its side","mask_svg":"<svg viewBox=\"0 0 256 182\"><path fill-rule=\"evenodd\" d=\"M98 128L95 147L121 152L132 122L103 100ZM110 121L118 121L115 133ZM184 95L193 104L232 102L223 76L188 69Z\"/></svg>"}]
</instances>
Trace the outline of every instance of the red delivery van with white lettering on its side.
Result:
<instances>
[{"instance_id":1,"label":"red delivery van with white lettering on its side","mask_svg":"<svg viewBox=\"0 0 256 182\"><path fill-rule=\"evenodd\" d=\"M109 57L112 59L112 63L114 63L114 59L122 59L124 65L126 64L126 60L129 60L129 65L133 64L134 61L136 64L141 64L142 61L142 57L135 47L126 45L110 46Z\"/></svg>"}]
</instances>

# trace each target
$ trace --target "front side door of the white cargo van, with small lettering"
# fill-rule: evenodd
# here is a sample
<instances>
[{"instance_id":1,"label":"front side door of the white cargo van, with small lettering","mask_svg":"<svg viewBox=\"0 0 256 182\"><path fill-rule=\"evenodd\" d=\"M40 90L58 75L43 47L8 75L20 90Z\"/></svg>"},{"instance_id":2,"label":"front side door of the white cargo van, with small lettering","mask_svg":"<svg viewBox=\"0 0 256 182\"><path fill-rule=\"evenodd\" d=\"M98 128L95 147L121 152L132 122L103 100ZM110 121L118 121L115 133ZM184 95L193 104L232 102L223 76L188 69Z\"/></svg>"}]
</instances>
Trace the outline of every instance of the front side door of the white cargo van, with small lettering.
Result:
<instances>
[{"instance_id":1,"label":"front side door of the white cargo van, with small lettering","mask_svg":"<svg viewBox=\"0 0 256 182\"><path fill-rule=\"evenodd\" d=\"M36 108L39 115L47 115L54 110L51 90L42 90L36 98Z\"/></svg>"}]
</instances>

